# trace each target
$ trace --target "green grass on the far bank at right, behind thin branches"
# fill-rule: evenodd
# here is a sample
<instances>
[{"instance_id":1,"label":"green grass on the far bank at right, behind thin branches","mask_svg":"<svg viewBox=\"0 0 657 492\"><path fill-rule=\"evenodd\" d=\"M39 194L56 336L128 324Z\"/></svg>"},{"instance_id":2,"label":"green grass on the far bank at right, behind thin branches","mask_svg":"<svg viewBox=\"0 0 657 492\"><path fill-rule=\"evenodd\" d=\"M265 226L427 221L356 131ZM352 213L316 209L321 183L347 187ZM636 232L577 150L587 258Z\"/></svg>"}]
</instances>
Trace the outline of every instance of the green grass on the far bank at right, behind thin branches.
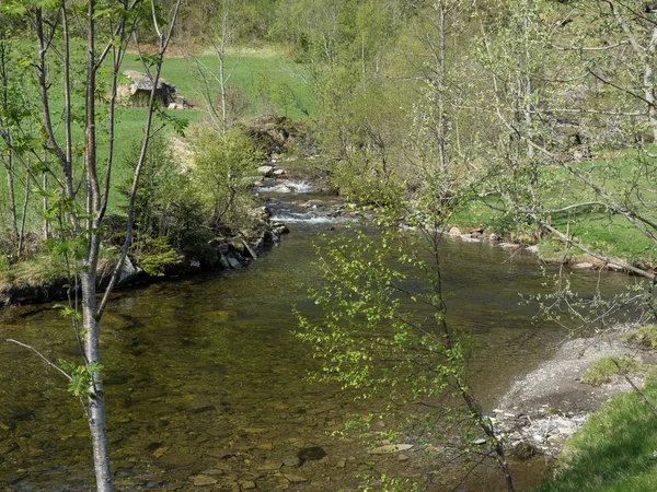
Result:
<instances>
[{"instance_id":1,"label":"green grass on the far bank at right, behind thin branches","mask_svg":"<svg viewBox=\"0 0 657 492\"><path fill-rule=\"evenodd\" d=\"M583 172L590 172L598 184L613 196L616 202L638 203L641 213L652 220L657 220L657 187L654 186L654 166L648 166L641 161L641 156L627 151L620 155L607 155L592 162L576 164ZM638 165L637 165L638 163ZM544 168L542 180L546 184L543 194L543 207L558 210L567 206L601 201L595 192L563 168ZM489 198L495 200L495 198ZM504 203L491 203L504 206ZM510 222L510 218L502 212L487 207L484 202L471 203L457 213L453 218L454 225L461 229L474 227L485 224L486 233L495 232L518 242L535 242L529 235L518 235L519 224ZM657 248L637 227L631 224L621 214L611 214L601 208L577 208L568 211L553 213L552 226L562 233L568 232L575 241L590 247L595 251L613 258L621 258L642 267L657 265ZM517 236L514 237L514 234ZM548 262L562 262L565 248L563 244L545 238L540 244L540 256ZM565 256L568 262L590 261L587 255L574 248Z\"/></svg>"}]
</instances>

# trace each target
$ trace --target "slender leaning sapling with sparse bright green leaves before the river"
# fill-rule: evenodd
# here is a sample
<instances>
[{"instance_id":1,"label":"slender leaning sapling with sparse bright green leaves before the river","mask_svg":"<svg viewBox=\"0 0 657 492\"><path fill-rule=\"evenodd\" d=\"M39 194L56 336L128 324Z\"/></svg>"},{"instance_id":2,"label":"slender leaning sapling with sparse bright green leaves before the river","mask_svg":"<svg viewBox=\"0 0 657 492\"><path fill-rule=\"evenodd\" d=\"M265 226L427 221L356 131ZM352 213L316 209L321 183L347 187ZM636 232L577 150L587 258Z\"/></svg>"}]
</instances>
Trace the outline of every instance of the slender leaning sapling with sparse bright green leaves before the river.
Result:
<instances>
[{"instance_id":1,"label":"slender leaning sapling with sparse bright green leaves before the river","mask_svg":"<svg viewBox=\"0 0 657 492\"><path fill-rule=\"evenodd\" d=\"M360 398L383 398L388 411L408 403L430 409L418 419L430 429L423 436L428 444L440 447L436 441L446 440L468 455L474 436L486 436L489 456L512 490L504 445L468 384L468 335L446 318L440 225L459 207L457 191L429 183L413 212L397 198L377 210L374 231L348 230L320 251L322 286L310 296L322 317L297 311L297 336L321 360L313 379L337 382ZM441 405L446 397L456 400ZM449 435L457 429L462 435ZM458 459L449 453L433 457L435 469L442 459Z\"/></svg>"}]
</instances>

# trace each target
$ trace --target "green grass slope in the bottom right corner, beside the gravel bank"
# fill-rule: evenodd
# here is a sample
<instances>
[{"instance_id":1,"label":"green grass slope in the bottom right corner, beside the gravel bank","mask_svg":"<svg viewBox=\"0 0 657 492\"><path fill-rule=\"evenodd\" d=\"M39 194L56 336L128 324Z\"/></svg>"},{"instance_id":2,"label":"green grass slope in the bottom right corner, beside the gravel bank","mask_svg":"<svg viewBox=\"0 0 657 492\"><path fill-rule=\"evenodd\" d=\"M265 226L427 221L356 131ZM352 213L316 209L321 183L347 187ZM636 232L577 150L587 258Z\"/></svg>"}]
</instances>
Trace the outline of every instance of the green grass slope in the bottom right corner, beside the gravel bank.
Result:
<instances>
[{"instance_id":1,"label":"green grass slope in the bottom right corner, beside the gravel bank","mask_svg":"<svg viewBox=\"0 0 657 492\"><path fill-rule=\"evenodd\" d=\"M657 401L657 384L644 388ZM657 490L657 417L638 395L614 397L567 443L554 479L541 492Z\"/></svg>"}]
</instances>

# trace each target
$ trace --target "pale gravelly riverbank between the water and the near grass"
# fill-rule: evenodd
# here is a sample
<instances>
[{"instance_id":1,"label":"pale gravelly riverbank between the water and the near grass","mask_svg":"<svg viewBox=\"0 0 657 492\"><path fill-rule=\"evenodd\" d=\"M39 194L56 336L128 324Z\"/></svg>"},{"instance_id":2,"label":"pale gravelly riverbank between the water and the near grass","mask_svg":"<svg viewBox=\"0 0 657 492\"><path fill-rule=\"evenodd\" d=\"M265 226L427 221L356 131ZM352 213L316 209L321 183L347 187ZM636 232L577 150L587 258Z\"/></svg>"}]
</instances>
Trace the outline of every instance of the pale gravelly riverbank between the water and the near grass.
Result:
<instances>
[{"instance_id":1,"label":"pale gravelly riverbank between the water and the near grass","mask_svg":"<svg viewBox=\"0 0 657 492\"><path fill-rule=\"evenodd\" d=\"M520 458L533 454L556 458L567 441L603 403L633 390L618 377L607 384L583 383L589 367L603 358L632 359L642 366L657 363L657 353L627 341L636 327L621 327L599 337L566 341L554 356L515 380L498 401L492 419ZM642 387L643 375L631 375Z\"/></svg>"}]
</instances>

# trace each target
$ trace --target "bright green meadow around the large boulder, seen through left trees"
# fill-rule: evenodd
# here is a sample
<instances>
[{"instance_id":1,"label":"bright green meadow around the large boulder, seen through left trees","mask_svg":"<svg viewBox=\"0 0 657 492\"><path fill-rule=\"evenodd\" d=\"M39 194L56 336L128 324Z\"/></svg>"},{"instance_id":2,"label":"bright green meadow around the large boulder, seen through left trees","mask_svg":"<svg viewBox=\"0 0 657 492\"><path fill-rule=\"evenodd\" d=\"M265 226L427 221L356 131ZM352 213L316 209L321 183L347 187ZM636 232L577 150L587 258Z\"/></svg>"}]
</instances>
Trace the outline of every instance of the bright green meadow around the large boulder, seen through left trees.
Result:
<instances>
[{"instance_id":1,"label":"bright green meadow around the large boulder, seen through left trees","mask_svg":"<svg viewBox=\"0 0 657 492\"><path fill-rule=\"evenodd\" d=\"M84 51L81 47L74 50L74 59L80 60L82 65ZM210 54L199 56L199 60L210 70L218 70L217 57ZM299 74L303 74L303 68L287 60L281 55L269 51L243 51L231 52L226 60L227 70L233 70L228 82L229 85L237 87L246 103L244 118L255 117L264 113L275 113L280 116L288 116L295 120L303 120L314 112L314 98L310 86ZM141 62L136 54L127 54L124 59L122 71L137 70L143 71ZM200 96L200 83L194 77L194 60L183 57L166 58L162 68L162 77L175 85L186 99L194 104L193 109L177 110L173 114L177 117L187 119L191 127L200 124L205 118L203 98ZM53 91L57 96L57 92ZM82 110L83 98L78 94L72 99L79 110ZM51 109L53 115L60 114L64 107L61 98L54 97ZM99 108L99 162L104 162L107 153L107 141L103 139L103 106ZM57 117L57 116L55 116ZM146 120L146 109L137 107L118 107L116 112L116 137L115 137L115 164L113 175L113 188L110 201L110 212L120 213L125 206L124 197L117 191L117 186L125 183L131 176L129 157L132 148L138 144L143 133L143 124ZM157 125L158 122L155 122ZM64 129L58 127L58 134L64 137ZM165 129L165 134L172 136L172 131ZM73 126L73 138L77 144L81 144L83 132L80 126ZM102 164L101 164L101 167ZM21 179L21 173L18 174L18 181ZM7 183L0 180L1 196L8 196ZM16 199L19 203L24 196L22 185L18 185ZM5 203L1 204L5 207ZM7 210L0 210L0 227L8 218ZM27 230L38 229L43 219L41 211L28 211Z\"/></svg>"}]
</instances>

